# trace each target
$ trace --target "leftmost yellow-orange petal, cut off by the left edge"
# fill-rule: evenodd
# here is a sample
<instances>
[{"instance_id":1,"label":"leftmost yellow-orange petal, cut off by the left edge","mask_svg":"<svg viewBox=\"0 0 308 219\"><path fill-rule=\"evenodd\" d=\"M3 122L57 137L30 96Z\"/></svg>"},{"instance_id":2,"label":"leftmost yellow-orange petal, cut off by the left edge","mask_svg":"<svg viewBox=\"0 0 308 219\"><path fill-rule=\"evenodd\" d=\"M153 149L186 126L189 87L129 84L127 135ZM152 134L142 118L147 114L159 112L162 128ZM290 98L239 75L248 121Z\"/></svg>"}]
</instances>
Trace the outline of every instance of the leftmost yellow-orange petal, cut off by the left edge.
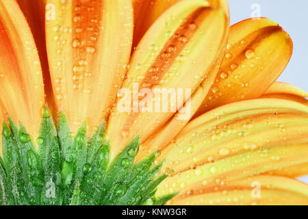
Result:
<instances>
[{"instance_id":1,"label":"leftmost yellow-orange petal, cut off by the left edge","mask_svg":"<svg viewBox=\"0 0 308 219\"><path fill-rule=\"evenodd\" d=\"M0 2L0 102L3 111L38 136L44 105L42 69L34 38L16 1Z\"/></svg>"}]
</instances>

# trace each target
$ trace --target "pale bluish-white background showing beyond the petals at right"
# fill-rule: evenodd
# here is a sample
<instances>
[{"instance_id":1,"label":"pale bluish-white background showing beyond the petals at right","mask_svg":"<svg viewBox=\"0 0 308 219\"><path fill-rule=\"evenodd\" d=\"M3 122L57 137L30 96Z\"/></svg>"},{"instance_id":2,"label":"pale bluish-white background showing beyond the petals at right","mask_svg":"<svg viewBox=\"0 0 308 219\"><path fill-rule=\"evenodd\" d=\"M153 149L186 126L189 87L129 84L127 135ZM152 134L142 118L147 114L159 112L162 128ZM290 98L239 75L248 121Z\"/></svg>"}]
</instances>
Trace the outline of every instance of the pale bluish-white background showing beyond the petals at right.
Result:
<instances>
[{"instance_id":1,"label":"pale bluish-white background showing beyond the petals at right","mask_svg":"<svg viewBox=\"0 0 308 219\"><path fill-rule=\"evenodd\" d=\"M255 3L261 16L277 21L290 34L294 51L292 59L278 81L292 83L308 91L308 1L307 0L228 0L231 25L250 18ZM308 183L308 177L302 177Z\"/></svg>"}]
</instances>

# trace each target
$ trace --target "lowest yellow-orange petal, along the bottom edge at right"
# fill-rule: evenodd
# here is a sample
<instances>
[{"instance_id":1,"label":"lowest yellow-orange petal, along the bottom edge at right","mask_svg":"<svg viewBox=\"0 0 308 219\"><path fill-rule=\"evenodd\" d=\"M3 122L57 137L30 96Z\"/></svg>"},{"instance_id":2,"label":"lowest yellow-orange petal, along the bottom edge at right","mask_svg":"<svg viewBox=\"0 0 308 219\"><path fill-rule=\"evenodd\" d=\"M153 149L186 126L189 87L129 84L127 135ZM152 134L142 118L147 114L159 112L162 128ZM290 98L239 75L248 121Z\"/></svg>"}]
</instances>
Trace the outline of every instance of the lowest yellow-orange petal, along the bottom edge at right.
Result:
<instances>
[{"instance_id":1,"label":"lowest yellow-orange petal, along the bottom edge at right","mask_svg":"<svg viewBox=\"0 0 308 219\"><path fill-rule=\"evenodd\" d=\"M286 177L260 175L197 188L169 205L308 205L308 185Z\"/></svg>"}]
</instances>

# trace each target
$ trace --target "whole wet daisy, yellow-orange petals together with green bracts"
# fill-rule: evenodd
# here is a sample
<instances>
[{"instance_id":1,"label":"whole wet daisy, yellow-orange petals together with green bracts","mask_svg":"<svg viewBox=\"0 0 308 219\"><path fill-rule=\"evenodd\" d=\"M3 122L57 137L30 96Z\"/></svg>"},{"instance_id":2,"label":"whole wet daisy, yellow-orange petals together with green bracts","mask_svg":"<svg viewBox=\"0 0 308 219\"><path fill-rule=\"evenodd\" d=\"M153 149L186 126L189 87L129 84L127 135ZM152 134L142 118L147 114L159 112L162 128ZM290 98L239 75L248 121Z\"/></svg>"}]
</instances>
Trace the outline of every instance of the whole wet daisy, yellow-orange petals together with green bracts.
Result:
<instances>
[{"instance_id":1,"label":"whole wet daisy, yellow-orange petals together with green bracts","mask_svg":"<svg viewBox=\"0 0 308 219\"><path fill-rule=\"evenodd\" d=\"M1 205L308 204L308 94L275 82L292 40L268 18L1 0L0 53ZM153 112L159 89L191 95Z\"/></svg>"}]
</instances>

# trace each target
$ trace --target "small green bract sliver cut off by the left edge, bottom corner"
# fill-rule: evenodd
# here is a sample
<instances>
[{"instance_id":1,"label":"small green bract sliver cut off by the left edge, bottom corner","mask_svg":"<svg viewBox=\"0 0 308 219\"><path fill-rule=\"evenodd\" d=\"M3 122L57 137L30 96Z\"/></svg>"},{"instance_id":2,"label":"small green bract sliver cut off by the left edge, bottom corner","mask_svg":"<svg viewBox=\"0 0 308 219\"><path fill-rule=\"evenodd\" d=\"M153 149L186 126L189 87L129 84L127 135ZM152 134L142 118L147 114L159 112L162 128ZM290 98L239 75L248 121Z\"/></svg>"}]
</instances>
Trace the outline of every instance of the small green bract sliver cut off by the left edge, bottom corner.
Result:
<instances>
[{"instance_id":1,"label":"small green bract sliver cut off by the left edge, bottom corner","mask_svg":"<svg viewBox=\"0 0 308 219\"><path fill-rule=\"evenodd\" d=\"M0 163L0 205L14 205L12 188L4 169L2 157L0 157Z\"/></svg>"}]
</instances>

